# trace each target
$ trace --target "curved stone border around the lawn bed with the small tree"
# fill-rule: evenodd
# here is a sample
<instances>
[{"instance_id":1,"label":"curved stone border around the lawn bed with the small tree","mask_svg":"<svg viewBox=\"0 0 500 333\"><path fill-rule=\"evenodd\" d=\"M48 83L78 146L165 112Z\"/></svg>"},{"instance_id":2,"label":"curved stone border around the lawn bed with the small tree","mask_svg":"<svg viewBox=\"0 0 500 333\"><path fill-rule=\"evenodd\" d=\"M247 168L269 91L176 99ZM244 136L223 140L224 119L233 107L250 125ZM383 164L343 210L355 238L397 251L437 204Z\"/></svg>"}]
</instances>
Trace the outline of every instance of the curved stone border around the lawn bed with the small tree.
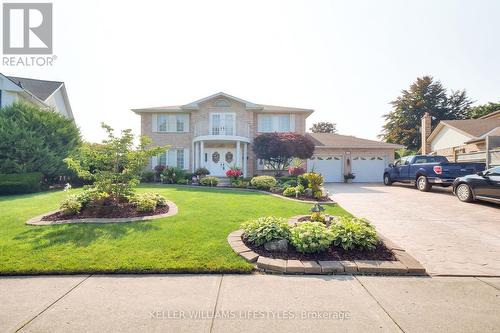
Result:
<instances>
[{"instance_id":1,"label":"curved stone border around the lawn bed with the small tree","mask_svg":"<svg viewBox=\"0 0 500 333\"><path fill-rule=\"evenodd\" d=\"M36 216L26 221L28 225L56 225L56 224L108 224L108 223L127 223L127 222L140 222L161 219L163 217L174 216L179 212L177 205L172 201L167 201L168 212L159 215L138 216L138 217L119 217L119 218L85 218L85 219L72 219L72 220L59 220L59 221L43 221L42 218L47 215L57 213L58 210Z\"/></svg>"}]
</instances>

